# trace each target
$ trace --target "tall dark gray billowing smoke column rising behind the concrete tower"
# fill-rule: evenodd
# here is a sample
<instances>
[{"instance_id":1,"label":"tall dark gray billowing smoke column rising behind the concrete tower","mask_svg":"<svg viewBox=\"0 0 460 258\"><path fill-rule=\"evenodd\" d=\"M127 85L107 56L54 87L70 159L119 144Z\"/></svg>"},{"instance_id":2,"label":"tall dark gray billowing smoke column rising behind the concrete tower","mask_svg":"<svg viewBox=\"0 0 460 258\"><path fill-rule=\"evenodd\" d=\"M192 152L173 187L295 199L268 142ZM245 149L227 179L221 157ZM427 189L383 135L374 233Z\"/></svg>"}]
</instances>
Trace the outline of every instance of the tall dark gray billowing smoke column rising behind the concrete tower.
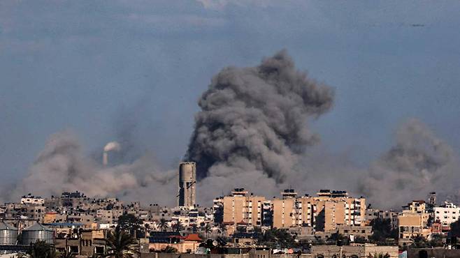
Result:
<instances>
[{"instance_id":1,"label":"tall dark gray billowing smoke column rising behind the concrete tower","mask_svg":"<svg viewBox=\"0 0 460 258\"><path fill-rule=\"evenodd\" d=\"M185 159L209 183L250 174L259 183L282 183L299 153L317 142L307 121L331 109L333 95L296 70L284 50L256 67L224 68L199 99Z\"/></svg>"}]
</instances>

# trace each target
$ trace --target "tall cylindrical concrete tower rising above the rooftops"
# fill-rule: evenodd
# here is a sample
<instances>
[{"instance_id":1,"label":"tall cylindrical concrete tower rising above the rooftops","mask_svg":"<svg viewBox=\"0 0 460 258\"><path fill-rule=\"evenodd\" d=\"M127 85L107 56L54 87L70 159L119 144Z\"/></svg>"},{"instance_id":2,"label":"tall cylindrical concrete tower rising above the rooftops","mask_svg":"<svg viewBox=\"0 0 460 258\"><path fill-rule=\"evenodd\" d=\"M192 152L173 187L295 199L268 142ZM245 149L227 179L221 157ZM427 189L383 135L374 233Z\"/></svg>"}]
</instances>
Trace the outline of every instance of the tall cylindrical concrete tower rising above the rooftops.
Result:
<instances>
[{"instance_id":1,"label":"tall cylindrical concrete tower rising above the rooftops","mask_svg":"<svg viewBox=\"0 0 460 258\"><path fill-rule=\"evenodd\" d=\"M195 184L195 162L181 162L179 165L179 206L190 207L195 205Z\"/></svg>"}]
</instances>

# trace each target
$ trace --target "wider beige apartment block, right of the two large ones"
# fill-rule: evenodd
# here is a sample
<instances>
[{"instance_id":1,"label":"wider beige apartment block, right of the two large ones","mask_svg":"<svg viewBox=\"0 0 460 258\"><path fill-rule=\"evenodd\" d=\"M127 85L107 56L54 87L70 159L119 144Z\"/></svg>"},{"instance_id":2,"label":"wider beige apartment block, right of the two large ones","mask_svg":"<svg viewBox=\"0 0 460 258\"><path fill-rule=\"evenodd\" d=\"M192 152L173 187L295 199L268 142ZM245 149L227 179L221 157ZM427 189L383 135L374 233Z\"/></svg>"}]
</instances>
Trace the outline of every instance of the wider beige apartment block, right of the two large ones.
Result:
<instances>
[{"instance_id":1,"label":"wider beige apartment block, right of the two large ones","mask_svg":"<svg viewBox=\"0 0 460 258\"><path fill-rule=\"evenodd\" d=\"M337 225L364 226L366 199L352 198L345 191L321 190L316 197L297 197L294 190L273 200L273 227L315 227L317 231L335 230Z\"/></svg>"}]
</instances>

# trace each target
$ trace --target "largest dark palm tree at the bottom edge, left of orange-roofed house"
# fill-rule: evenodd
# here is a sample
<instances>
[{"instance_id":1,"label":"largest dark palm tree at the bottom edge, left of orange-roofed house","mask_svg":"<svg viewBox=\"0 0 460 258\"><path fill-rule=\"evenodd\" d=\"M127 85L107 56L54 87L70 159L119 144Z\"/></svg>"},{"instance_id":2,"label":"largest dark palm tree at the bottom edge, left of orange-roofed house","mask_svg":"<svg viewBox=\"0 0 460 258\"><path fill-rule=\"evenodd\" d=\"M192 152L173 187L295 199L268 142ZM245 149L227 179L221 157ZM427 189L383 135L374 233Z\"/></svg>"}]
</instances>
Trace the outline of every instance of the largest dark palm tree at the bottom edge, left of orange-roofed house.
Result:
<instances>
[{"instance_id":1,"label":"largest dark palm tree at the bottom edge, left of orange-roofed house","mask_svg":"<svg viewBox=\"0 0 460 258\"><path fill-rule=\"evenodd\" d=\"M131 258L138 254L138 242L128 232L115 227L113 232L108 232L106 238L107 255L113 258Z\"/></svg>"}]
</instances>

